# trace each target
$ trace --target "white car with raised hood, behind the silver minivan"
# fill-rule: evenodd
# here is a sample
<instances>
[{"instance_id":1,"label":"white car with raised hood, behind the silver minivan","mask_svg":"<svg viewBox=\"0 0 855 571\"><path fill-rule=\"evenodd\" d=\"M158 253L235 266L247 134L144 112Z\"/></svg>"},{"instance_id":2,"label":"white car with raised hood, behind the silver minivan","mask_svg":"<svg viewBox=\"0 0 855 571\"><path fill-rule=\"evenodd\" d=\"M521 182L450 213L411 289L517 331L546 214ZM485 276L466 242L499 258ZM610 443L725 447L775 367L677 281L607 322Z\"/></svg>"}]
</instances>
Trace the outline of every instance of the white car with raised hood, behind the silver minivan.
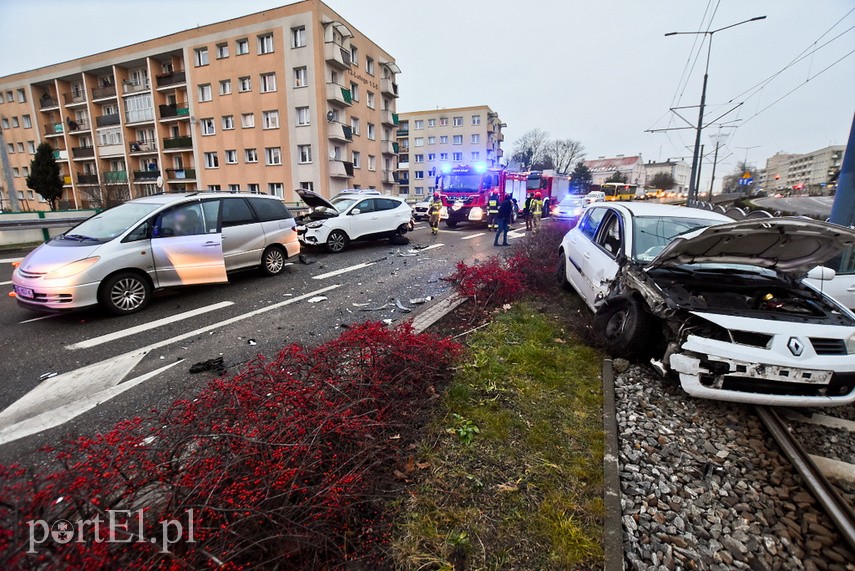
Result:
<instances>
[{"instance_id":1,"label":"white car with raised hood, behind the silver minivan","mask_svg":"<svg viewBox=\"0 0 855 571\"><path fill-rule=\"evenodd\" d=\"M326 246L335 254L357 240L403 236L410 229L412 209L395 196L348 194L327 200L311 190L298 190L310 211L298 219L300 242Z\"/></svg>"}]
</instances>

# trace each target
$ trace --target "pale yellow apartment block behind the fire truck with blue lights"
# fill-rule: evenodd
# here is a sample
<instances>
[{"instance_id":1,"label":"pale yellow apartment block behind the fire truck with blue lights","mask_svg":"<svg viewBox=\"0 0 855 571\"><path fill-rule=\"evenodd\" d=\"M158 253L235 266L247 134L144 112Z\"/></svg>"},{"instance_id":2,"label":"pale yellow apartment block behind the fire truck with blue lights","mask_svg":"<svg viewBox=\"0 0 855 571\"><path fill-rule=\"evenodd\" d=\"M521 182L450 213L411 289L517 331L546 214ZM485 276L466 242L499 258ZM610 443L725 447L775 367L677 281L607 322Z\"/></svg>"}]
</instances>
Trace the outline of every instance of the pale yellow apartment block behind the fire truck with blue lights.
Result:
<instances>
[{"instance_id":1,"label":"pale yellow apartment block behind the fire truck with blue lights","mask_svg":"<svg viewBox=\"0 0 855 571\"><path fill-rule=\"evenodd\" d=\"M506 126L486 105L401 113L396 132L398 192L430 194L443 165L500 166Z\"/></svg>"}]
</instances>

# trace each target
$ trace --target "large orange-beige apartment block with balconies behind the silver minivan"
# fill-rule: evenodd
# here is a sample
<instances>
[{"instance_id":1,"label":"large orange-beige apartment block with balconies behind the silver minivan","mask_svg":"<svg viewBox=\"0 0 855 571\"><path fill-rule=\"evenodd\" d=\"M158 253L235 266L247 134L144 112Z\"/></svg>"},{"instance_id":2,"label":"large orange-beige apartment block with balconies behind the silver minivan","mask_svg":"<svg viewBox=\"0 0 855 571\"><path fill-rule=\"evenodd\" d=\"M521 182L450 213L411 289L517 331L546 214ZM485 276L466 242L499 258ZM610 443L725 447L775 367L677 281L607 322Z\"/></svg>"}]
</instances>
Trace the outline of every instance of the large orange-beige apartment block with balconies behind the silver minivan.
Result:
<instances>
[{"instance_id":1,"label":"large orange-beige apartment block with balconies behind the silver minivan","mask_svg":"<svg viewBox=\"0 0 855 571\"><path fill-rule=\"evenodd\" d=\"M82 208L123 190L392 192L398 66L304 0L0 78L0 137L22 209L47 142ZM8 196L3 201L8 204Z\"/></svg>"}]
</instances>

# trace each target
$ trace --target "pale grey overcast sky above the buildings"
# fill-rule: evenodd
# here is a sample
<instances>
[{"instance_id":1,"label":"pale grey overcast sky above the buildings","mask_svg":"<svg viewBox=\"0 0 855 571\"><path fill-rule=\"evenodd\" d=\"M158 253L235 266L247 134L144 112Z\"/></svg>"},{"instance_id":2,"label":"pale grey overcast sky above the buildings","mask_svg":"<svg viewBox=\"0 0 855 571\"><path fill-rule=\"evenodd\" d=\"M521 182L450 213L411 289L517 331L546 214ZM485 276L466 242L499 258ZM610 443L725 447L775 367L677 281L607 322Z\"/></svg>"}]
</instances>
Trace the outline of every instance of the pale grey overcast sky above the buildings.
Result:
<instances>
[{"instance_id":1,"label":"pale grey overcast sky above the buildings","mask_svg":"<svg viewBox=\"0 0 855 571\"><path fill-rule=\"evenodd\" d=\"M284 3L0 0L0 76ZM697 122L706 44L696 58L702 36L665 33L755 16L767 18L713 36L706 117L742 103L721 120L729 127L719 174L746 157L762 167L778 151L844 145L855 112L852 0L326 3L395 57L399 111L489 105L508 125L506 157L517 137L539 128L580 141L587 158L691 162L693 130L646 132L687 126L672 107L686 107L678 112ZM716 131L705 130L705 151Z\"/></svg>"}]
</instances>

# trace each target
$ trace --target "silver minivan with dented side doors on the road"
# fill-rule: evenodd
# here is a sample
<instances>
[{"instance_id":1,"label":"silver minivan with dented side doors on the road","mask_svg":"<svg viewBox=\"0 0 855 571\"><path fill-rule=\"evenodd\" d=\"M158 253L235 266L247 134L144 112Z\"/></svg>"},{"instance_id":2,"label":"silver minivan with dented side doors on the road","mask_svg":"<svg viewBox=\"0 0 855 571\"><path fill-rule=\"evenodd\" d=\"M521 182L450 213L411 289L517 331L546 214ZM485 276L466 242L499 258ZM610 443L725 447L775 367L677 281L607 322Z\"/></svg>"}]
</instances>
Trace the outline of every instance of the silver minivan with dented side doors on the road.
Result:
<instances>
[{"instance_id":1,"label":"silver minivan with dented side doors on the road","mask_svg":"<svg viewBox=\"0 0 855 571\"><path fill-rule=\"evenodd\" d=\"M158 194L88 218L42 244L12 275L20 305L62 311L100 304L123 315L164 287L227 282L259 267L274 276L300 253L279 198L241 193Z\"/></svg>"}]
</instances>

